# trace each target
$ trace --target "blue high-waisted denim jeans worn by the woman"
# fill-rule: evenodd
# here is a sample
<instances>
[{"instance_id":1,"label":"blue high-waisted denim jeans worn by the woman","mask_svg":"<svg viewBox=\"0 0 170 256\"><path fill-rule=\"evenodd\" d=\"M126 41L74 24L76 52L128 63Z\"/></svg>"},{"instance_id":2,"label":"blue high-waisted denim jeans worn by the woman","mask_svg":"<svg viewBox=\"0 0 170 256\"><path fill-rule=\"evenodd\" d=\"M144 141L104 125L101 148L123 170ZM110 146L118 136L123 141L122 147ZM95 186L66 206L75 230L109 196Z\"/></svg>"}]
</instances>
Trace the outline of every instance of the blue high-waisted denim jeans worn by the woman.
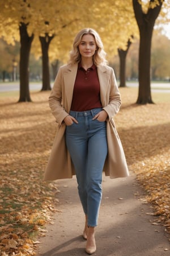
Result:
<instances>
[{"instance_id":1,"label":"blue high-waisted denim jeans worn by the woman","mask_svg":"<svg viewBox=\"0 0 170 256\"><path fill-rule=\"evenodd\" d=\"M102 196L102 172L108 152L106 122L92 118L101 108L71 111L78 124L66 127L66 144L73 161L78 192L88 226L96 226Z\"/></svg>"}]
</instances>

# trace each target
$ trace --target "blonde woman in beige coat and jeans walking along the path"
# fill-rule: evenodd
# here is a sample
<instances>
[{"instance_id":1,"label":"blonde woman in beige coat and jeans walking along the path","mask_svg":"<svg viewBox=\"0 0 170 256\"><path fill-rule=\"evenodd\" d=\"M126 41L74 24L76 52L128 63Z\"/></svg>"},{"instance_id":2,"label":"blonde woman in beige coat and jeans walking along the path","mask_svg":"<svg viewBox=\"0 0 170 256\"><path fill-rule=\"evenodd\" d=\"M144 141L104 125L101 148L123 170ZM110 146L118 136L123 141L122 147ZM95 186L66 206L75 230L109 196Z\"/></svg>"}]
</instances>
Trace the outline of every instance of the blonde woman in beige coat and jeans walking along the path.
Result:
<instances>
[{"instance_id":1,"label":"blonde woman in beige coat and jeans walking along the path","mask_svg":"<svg viewBox=\"0 0 170 256\"><path fill-rule=\"evenodd\" d=\"M129 175L113 121L121 106L120 92L100 36L92 28L76 35L69 64L59 68L49 105L58 130L45 180L76 174L85 214L86 252L92 254L96 251L102 172L112 178Z\"/></svg>"}]
</instances>

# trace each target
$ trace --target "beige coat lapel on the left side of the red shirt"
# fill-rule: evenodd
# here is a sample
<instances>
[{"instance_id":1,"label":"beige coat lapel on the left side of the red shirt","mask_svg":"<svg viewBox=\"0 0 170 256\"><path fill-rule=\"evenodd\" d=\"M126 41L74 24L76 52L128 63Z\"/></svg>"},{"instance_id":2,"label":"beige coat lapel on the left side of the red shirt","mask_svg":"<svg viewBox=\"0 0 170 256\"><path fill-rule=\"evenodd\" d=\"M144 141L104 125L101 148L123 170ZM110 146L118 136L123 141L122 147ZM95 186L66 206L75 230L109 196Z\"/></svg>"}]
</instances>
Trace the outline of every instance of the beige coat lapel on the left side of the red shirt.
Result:
<instances>
[{"instance_id":1,"label":"beige coat lapel on the left side of the red shirt","mask_svg":"<svg viewBox=\"0 0 170 256\"><path fill-rule=\"evenodd\" d=\"M67 110L68 113L70 112L70 108L71 108L71 101L73 98L73 89L74 89L77 69L78 69L78 64L74 64L70 66L68 65L68 68L66 69L65 73L63 73L65 95L66 95L65 109Z\"/></svg>"}]
</instances>

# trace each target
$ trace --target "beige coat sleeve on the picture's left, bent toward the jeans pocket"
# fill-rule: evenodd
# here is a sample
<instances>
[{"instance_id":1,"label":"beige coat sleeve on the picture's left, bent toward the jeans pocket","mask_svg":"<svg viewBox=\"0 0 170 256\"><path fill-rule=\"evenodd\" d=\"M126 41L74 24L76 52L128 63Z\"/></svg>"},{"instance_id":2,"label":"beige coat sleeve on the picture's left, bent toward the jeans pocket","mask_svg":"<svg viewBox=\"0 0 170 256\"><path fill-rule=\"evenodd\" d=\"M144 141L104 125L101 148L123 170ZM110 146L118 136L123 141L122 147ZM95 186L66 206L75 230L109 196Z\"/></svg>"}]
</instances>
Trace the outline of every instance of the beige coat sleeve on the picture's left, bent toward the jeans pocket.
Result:
<instances>
[{"instance_id":1,"label":"beige coat sleeve on the picture's left, bent toward the jeans pocket","mask_svg":"<svg viewBox=\"0 0 170 256\"><path fill-rule=\"evenodd\" d=\"M63 71L62 67L60 67L54 81L52 92L49 96L50 109L52 110L52 114L56 118L56 122L59 123L59 125L61 125L63 119L69 115L62 105L62 82Z\"/></svg>"}]
</instances>

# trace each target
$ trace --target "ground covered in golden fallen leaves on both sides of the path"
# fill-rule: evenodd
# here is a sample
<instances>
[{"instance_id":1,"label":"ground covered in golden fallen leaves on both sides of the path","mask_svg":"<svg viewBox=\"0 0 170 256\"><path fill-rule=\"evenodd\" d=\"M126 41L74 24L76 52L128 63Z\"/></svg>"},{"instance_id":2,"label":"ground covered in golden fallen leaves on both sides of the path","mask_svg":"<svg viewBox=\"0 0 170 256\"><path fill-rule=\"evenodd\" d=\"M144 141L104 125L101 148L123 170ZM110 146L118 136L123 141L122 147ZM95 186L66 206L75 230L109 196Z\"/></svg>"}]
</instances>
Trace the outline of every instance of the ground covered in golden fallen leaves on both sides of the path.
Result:
<instances>
[{"instance_id":1,"label":"ground covered in golden fallen leaves on both sides of the path","mask_svg":"<svg viewBox=\"0 0 170 256\"><path fill-rule=\"evenodd\" d=\"M165 95L165 94L164 94ZM55 183L42 180L56 125L49 92L33 92L33 102L1 97L1 255L36 255L37 234L56 210ZM146 189L155 224L170 233L170 100L154 94L156 104L136 105L137 89L121 88L122 108L115 121L130 171ZM170 96L170 95L169 95ZM165 102L164 102L165 99Z\"/></svg>"}]
</instances>

